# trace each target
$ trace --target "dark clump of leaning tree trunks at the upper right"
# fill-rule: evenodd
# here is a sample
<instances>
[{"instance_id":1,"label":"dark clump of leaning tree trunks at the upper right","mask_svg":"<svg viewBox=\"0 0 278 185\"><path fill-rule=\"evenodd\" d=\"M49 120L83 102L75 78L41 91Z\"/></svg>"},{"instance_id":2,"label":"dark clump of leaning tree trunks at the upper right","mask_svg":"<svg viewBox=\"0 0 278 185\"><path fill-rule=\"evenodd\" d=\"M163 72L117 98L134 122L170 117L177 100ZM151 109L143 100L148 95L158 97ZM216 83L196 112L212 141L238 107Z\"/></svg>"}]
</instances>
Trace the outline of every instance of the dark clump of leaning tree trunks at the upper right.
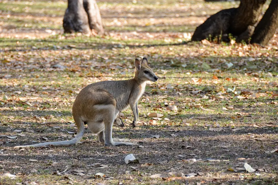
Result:
<instances>
[{"instance_id":1,"label":"dark clump of leaning tree trunks at the upper right","mask_svg":"<svg viewBox=\"0 0 278 185\"><path fill-rule=\"evenodd\" d=\"M250 41L262 45L272 38L278 27L278 0L272 0L255 28L266 0L241 0L238 8L221 10L198 26L192 41L232 34L237 42Z\"/></svg>"}]
</instances>

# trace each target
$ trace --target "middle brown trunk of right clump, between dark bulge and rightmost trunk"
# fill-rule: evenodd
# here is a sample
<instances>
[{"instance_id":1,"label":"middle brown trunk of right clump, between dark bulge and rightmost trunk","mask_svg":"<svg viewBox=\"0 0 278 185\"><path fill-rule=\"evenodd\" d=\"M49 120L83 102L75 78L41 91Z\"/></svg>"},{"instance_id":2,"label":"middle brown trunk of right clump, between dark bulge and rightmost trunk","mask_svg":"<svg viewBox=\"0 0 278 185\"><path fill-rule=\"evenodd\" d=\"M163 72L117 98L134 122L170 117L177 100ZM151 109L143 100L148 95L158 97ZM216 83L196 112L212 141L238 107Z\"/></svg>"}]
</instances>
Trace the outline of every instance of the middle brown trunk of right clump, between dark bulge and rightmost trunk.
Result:
<instances>
[{"instance_id":1,"label":"middle brown trunk of right clump, between dark bulge and rightmost trunk","mask_svg":"<svg viewBox=\"0 0 278 185\"><path fill-rule=\"evenodd\" d=\"M265 2L266 0L241 0L229 32L237 36L245 32L249 25L254 26L259 20Z\"/></svg>"}]
</instances>

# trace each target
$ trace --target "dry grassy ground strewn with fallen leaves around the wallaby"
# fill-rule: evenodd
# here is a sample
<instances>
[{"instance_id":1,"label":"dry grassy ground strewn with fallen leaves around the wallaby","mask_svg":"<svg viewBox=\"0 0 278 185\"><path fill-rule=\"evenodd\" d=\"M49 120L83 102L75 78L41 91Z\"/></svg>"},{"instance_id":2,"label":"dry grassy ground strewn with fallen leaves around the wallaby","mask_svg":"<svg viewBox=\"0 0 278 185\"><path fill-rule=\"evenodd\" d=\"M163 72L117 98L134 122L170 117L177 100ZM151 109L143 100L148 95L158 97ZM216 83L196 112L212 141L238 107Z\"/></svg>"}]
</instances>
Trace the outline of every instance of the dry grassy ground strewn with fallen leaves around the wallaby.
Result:
<instances>
[{"instance_id":1,"label":"dry grassy ground strewn with fallen leaves around the wallaby","mask_svg":"<svg viewBox=\"0 0 278 185\"><path fill-rule=\"evenodd\" d=\"M62 35L65 1L0 1L0 184L277 184L277 36L266 47L187 42L210 14L238 3L98 5L103 38ZM160 78L139 101L138 127L127 109L126 126L113 130L140 147L104 146L86 129L75 146L13 149L74 137L78 92L132 78L142 56ZM140 163L126 164L128 154Z\"/></svg>"}]
</instances>

